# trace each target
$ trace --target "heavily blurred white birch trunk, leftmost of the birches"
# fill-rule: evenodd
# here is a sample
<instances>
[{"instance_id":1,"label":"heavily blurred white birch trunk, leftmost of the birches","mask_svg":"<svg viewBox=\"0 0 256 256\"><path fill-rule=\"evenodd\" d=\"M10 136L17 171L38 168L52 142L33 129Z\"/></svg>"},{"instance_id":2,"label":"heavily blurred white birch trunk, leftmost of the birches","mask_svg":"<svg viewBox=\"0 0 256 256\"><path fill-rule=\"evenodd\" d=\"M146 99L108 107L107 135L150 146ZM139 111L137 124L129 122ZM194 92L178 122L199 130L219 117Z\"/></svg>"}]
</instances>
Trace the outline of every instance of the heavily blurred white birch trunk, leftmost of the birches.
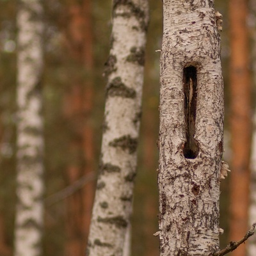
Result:
<instances>
[{"instance_id":1,"label":"heavily blurred white birch trunk, leftmost of the birches","mask_svg":"<svg viewBox=\"0 0 256 256\"><path fill-rule=\"evenodd\" d=\"M43 118L42 6L22 0L17 15L17 209L15 256L42 255L43 225Z\"/></svg>"}]
</instances>

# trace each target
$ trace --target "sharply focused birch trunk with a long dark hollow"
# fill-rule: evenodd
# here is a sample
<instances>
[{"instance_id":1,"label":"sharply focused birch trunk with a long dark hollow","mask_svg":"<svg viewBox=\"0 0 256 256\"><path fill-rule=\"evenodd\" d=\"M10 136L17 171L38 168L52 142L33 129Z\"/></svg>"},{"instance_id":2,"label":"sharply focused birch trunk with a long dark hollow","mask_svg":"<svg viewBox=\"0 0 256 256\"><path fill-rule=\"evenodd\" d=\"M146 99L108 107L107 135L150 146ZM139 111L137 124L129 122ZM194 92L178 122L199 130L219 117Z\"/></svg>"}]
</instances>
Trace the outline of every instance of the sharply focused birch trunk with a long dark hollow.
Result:
<instances>
[{"instance_id":1,"label":"sharply focused birch trunk with a long dark hollow","mask_svg":"<svg viewBox=\"0 0 256 256\"><path fill-rule=\"evenodd\" d=\"M220 35L212 0L164 0L163 13L160 255L205 256L219 248Z\"/></svg>"}]
</instances>

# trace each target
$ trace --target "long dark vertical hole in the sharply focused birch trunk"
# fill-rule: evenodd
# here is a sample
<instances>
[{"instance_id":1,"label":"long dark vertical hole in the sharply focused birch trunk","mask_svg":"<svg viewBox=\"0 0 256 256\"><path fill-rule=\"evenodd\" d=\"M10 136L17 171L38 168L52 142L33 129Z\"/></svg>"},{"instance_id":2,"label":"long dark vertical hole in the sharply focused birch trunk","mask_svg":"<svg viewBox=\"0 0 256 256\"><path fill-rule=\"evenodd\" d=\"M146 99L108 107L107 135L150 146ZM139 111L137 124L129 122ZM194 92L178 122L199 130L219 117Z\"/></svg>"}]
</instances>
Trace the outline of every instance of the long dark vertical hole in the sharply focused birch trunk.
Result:
<instances>
[{"instance_id":1,"label":"long dark vertical hole in the sharply focused birch trunk","mask_svg":"<svg viewBox=\"0 0 256 256\"><path fill-rule=\"evenodd\" d=\"M195 159L198 155L199 147L195 140L196 122L196 96L197 96L197 77L196 68L189 66L183 70L184 88L184 114L186 123L186 143L183 154L188 159Z\"/></svg>"}]
</instances>

